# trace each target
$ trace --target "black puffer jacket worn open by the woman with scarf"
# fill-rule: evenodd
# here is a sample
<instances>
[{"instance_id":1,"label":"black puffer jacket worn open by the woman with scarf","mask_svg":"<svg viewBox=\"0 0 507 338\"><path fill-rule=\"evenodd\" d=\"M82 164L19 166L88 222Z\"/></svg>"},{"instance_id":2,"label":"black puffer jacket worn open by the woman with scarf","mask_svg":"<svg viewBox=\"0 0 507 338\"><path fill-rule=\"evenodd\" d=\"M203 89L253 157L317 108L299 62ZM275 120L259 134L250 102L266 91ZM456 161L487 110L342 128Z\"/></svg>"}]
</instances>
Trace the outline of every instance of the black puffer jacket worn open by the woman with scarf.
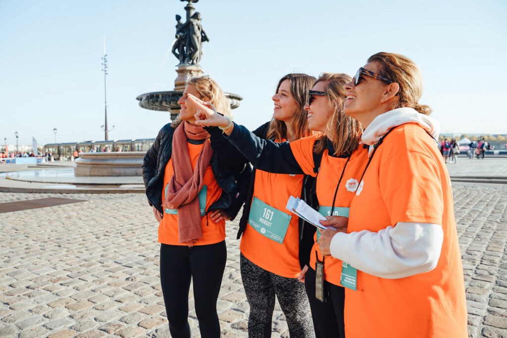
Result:
<instances>
[{"instance_id":1,"label":"black puffer jacket worn open by the woman with scarf","mask_svg":"<svg viewBox=\"0 0 507 338\"><path fill-rule=\"evenodd\" d=\"M150 205L155 206L162 214L164 171L172 155L174 130L175 128L172 128L170 123L162 127L155 142L144 156L142 164L142 179L146 187L146 196ZM221 133L218 128L216 130L213 129L214 132ZM209 206L206 214L213 210L223 209L231 219L234 219L245 199L251 169L243 155L227 139L212 138L211 148L213 149L211 169L216 182L222 188L222 195Z\"/></svg>"}]
</instances>

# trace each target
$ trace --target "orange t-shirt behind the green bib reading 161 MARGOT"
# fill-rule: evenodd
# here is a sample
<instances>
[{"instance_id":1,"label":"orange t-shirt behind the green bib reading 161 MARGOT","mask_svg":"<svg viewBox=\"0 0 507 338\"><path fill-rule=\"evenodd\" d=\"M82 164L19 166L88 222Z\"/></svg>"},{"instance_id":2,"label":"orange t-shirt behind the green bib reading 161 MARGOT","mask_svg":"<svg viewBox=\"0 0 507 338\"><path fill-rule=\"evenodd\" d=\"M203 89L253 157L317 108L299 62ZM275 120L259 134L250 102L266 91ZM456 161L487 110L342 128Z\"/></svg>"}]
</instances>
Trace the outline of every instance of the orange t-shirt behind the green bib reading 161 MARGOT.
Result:
<instances>
[{"instance_id":1,"label":"orange t-shirt behind the green bib reading 161 MARGOT","mask_svg":"<svg viewBox=\"0 0 507 338\"><path fill-rule=\"evenodd\" d=\"M280 212L290 214L292 218L281 244L260 234L248 222L239 245L241 253L254 264L287 278L297 278L301 267L299 266L299 218L285 207L289 196L301 196L302 185L302 174L273 174L257 170L253 183L253 197L257 197Z\"/></svg>"}]
</instances>

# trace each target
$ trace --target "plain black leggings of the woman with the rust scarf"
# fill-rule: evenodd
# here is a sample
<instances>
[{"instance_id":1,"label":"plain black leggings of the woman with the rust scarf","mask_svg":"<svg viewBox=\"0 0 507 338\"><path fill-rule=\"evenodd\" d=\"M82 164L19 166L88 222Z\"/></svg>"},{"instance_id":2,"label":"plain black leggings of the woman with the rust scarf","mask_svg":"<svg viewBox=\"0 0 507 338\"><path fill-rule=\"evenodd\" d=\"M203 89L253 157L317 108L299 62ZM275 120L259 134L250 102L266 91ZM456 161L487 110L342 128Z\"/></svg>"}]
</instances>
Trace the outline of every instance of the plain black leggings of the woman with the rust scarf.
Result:
<instances>
[{"instance_id":1,"label":"plain black leggings of the woman with the rust scarf","mask_svg":"<svg viewBox=\"0 0 507 338\"><path fill-rule=\"evenodd\" d=\"M164 294L169 330L173 338L190 338L188 296L194 282L195 313L201 337L220 337L216 314L227 249L225 241L209 245L160 246L160 283Z\"/></svg>"}]
</instances>

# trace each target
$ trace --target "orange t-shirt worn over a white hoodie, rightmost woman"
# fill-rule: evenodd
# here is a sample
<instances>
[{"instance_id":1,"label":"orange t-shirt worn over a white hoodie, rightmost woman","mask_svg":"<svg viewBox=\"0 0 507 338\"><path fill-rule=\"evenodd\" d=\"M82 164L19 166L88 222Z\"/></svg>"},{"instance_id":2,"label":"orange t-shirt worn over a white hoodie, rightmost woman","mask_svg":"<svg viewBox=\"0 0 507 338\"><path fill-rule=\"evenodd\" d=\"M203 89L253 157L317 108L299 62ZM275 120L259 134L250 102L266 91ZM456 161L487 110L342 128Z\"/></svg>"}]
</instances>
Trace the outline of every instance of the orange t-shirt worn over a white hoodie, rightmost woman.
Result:
<instances>
[{"instance_id":1,"label":"orange t-shirt worn over a white hoodie, rightmost woman","mask_svg":"<svg viewBox=\"0 0 507 338\"><path fill-rule=\"evenodd\" d=\"M451 181L435 142L416 124L396 127L378 147L350 205L347 232L397 222L442 224L437 267L398 279L357 271L357 291L345 288L346 336L466 337Z\"/></svg>"}]
</instances>

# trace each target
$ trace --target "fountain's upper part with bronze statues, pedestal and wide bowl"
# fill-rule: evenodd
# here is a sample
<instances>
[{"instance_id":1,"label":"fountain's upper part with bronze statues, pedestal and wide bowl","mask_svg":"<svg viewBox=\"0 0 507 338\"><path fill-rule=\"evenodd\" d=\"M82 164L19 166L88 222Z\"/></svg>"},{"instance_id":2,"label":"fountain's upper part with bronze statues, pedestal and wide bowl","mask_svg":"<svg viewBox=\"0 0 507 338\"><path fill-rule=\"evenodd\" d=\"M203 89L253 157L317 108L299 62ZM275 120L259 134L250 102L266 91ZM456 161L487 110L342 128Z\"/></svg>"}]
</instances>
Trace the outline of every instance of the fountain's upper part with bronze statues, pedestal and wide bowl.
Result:
<instances>
[{"instance_id":1,"label":"fountain's upper part with bronze statues, pedestal and wide bowl","mask_svg":"<svg viewBox=\"0 0 507 338\"><path fill-rule=\"evenodd\" d=\"M199 0L181 0L188 2L185 6L187 21L182 22L181 17L176 15L176 34L171 46L171 52L179 60L176 65L178 74L174 80L174 90L151 92L136 97L139 105L150 110L169 111L171 120L179 114L178 99L182 96L185 86L192 77L201 76L204 72L199 64L202 57L202 44L209 41L208 36L201 25L201 14L194 12L192 3ZM224 93L229 99L231 108L237 108L243 98L232 93Z\"/></svg>"}]
</instances>

